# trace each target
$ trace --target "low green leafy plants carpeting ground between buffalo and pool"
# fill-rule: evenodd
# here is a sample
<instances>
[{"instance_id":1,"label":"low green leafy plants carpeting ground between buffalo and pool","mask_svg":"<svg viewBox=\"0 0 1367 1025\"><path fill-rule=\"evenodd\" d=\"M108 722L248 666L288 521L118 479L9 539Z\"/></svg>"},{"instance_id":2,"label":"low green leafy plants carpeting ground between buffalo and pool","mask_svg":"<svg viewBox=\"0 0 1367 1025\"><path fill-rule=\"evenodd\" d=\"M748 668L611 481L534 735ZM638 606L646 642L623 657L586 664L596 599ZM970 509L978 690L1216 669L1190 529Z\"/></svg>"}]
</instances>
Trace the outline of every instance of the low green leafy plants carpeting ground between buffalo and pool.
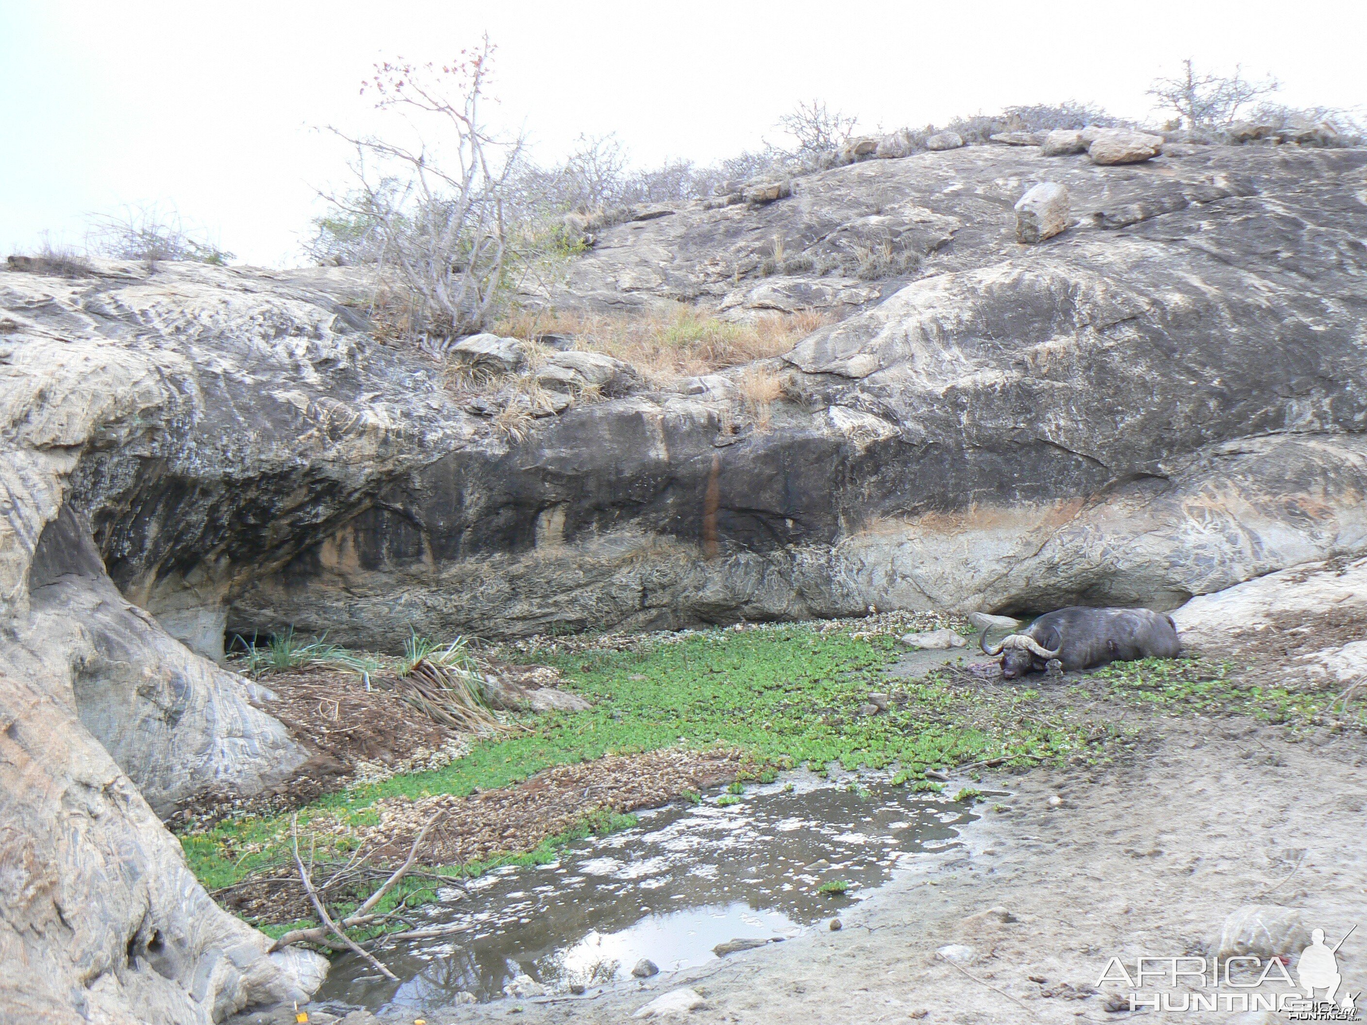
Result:
<instances>
[{"instance_id":1,"label":"low green leafy plants carpeting ground between buffalo and pool","mask_svg":"<svg viewBox=\"0 0 1367 1025\"><path fill-rule=\"evenodd\" d=\"M741 749L749 756L746 764L767 779L774 769L801 764L815 771L827 763L846 769L897 765L895 782L930 790L938 784L924 778L928 768L1106 760L1114 742L1124 743L1133 730L1126 720L1135 716L1126 709L1239 712L1312 724L1323 722L1334 697L1241 686L1230 664L1199 659L1121 663L1079 682L1032 679L1032 686L984 683L956 668L920 681L883 676L902 651L890 634L817 625L647 638L622 651L551 644L528 652L526 660L560 668L567 686L593 701L592 709L528 716L522 720L528 733L478 741L446 768L324 797L301 809L301 831L325 823L327 832L310 834L316 856L344 858L357 843L347 827L375 824L373 805L381 798L463 795L604 753L675 745ZM890 692L891 705L879 715L860 715L875 690ZM477 873L510 861L545 861L576 836L629 821L600 816L536 850L439 871ZM180 839L190 866L211 890L291 864L290 816L228 820ZM395 898L421 899L432 886L406 882Z\"/></svg>"}]
</instances>

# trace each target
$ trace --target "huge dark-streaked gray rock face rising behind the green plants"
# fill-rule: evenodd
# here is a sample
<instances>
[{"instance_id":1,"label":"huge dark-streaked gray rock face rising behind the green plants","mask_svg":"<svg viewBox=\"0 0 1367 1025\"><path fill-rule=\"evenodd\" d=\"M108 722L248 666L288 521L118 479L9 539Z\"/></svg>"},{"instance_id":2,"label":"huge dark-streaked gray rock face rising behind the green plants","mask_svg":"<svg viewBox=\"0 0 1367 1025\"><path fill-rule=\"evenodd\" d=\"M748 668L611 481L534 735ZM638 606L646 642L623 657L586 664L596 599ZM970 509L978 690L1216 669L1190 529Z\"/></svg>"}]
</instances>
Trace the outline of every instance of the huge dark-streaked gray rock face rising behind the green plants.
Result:
<instances>
[{"instance_id":1,"label":"huge dark-streaked gray rock face rising behind the green plants","mask_svg":"<svg viewBox=\"0 0 1367 1025\"><path fill-rule=\"evenodd\" d=\"M1364 161L969 146L607 230L559 301L741 313L778 280L745 269L775 235L923 256L789 354L768 430L720 376L574 402L510 444L323 279L3 283L38 310L26 346L98 336L101 358L165 368L138 440L85 451L72 499L123 593L172 626L392 646L410 626L1173 607L1364 544ZM1010 206L1046 168L1081 223L1023 254ZM853 279L783 282L789 309L835 282L858 302Z\"/></svg>"}]
</instances>

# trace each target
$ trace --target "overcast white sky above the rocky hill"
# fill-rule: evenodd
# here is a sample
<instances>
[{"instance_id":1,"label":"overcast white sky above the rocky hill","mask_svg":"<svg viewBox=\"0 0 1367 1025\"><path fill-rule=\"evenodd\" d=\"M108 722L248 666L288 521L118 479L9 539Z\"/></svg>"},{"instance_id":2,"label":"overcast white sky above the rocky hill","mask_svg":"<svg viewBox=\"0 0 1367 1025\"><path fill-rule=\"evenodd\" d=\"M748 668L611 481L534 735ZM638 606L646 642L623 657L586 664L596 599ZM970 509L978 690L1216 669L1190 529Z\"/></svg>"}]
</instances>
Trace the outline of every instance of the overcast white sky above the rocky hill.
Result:
<instances>
[{"instance_id":1,"label":"overcast white sky above the rocky hill","mask_svg":"<svg viewBox=\"0 0 1367 1025\"><path fill-rule=\"evenodd\" d=\"M1185 56L1273 74L1290 105L1367 105L1362 0L0 0L0 246L161 204L239 260L299 264L316 189L343 178L319 127L368 127L376 60L484 31L499 113L545 160L611 131L636 163L705 163L812 97L886 128L1065 98L1137 118Z\"/></svg>"}]
</instances>

